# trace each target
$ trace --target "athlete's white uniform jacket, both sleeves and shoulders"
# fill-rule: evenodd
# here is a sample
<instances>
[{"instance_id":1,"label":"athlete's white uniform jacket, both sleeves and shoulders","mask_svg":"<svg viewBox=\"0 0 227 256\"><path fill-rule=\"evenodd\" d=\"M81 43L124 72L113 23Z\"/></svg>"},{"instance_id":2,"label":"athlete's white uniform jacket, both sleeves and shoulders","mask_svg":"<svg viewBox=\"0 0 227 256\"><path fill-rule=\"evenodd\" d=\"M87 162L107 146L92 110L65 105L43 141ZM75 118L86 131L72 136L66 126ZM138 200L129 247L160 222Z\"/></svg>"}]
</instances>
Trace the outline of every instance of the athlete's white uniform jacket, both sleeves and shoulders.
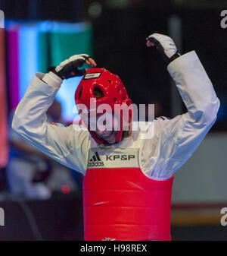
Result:
<instances>
[{"instance_id":1,"label":"athlete's white uniform jacket, both sleeves and shoulders","mask_svg":"<svg viewBox=\"0 0 227 256\"><path fill-rule=\"evenodd\" d=\"M12 127L43 153L83 175L92 157L90 149L96 147L118 152L138 150L138 166L135 167L152 179L169 179L188 160L216 121L219 99L194 51L176 58L167 69L188 112L174 119L155 119L150 123L154 125L154 136L150 138L144 139L141 131L132 131L132 135L120 143L105 146L96 144L89 131L79 125L61 127L49 124L46 111L61 81L54 81L42 73L33 77L17 106ZM113 158L107 160L110 163Z\"/></svg>"}]
</instances>

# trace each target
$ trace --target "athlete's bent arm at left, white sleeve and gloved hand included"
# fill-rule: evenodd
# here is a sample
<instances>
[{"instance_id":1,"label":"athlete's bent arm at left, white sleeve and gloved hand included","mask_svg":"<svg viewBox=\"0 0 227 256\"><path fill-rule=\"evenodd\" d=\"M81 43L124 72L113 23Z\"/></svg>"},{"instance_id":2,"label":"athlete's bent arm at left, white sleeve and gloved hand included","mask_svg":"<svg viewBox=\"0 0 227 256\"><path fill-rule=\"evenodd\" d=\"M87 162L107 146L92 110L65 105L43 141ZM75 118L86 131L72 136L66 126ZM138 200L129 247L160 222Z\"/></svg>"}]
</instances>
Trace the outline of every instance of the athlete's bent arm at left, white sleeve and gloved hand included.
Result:
<instances>
[{"instance_id":1,"label":"athlete's bent arm at left, white sleeve and gloved hand included","mask_svg":"<svg viewBox=\"0 0 227 256\"><path fill-rule=\"evenodd\" d=\"M82 142L84 145L89 144L88 133L77 129L75 141L73 125L51 125L47 122L46 112L54 101L62 79L82 75L85 70L77 68L84 62L95 65L89 55L73 55L58 67L52 67L48 74L37 73L17 106L12 122L12 128L30 144L82 173L85 172L86 159L80 147Z\"/></svg>"}]
</instances>

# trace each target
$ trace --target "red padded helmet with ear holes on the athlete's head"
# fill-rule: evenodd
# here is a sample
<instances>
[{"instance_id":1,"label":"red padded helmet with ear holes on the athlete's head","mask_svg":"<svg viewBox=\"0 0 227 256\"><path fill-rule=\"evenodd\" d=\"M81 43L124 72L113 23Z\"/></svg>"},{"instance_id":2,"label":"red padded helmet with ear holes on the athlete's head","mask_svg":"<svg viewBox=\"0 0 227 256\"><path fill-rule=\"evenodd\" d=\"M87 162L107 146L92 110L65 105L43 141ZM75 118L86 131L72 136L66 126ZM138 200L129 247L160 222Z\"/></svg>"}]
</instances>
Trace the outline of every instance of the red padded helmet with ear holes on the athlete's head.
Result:
<instances>
[{"instance_id":1,"label":"red padded helmet with ear holes on the athlete's head","mask_svg":"<svg viewBox=\"0 0 227 256\"><path fill-rule=\"evenodd\" d=\"M95 99L94 90L101 91L101 98ZM94 102L96 103L96 109L101 104L108 104L114 112L114 106L119 104L122 109L131 109L129 110L128 118L129 122L127 122L127 126L129 123L132 122L132 100L129 99L128 93L126 88L123 85L123 82L120 80L116 74L110 73L104 68L90 68L86 71L86 74L82 77L82 80L79 83L79 86L76 89L75 93L75 101L76 105L84 104L88 109L89 116L92 116L91 107L90 107L90 99L93 98ZM102 115L97 114L95 109L96 116ZM117 108L118 109L118 108ZM94 109L92 109L94 110ZM117 113L116 113L117 111ZM123 124L124 124L124 115L123 111L118 111L115 109L115 116L119 116L120 119L120 128L117 131L116 141L120 142L123 137ZM105 141L103 138L99 137L95 131L90 131L90 127L88 126L89 132L95 141L98 144L103 144Z\"/></svg>"}]
</instances>

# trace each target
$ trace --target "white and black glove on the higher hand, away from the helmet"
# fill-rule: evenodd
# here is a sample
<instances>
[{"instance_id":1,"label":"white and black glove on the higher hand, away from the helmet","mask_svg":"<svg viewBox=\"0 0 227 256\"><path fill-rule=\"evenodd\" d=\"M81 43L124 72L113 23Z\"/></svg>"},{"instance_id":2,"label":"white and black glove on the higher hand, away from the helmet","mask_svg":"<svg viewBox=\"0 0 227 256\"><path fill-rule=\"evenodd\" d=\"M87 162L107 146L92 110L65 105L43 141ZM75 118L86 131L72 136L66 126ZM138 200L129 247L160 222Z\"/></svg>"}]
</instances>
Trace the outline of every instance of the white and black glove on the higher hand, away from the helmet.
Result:
<instances>
[{"instance_id":1,"label":"white and black glove on the higher hand, away from the helmet","mask_svg":"<svg viewBox=\"0 0 227 256\"><path fill-rule=\"evenodd\" d=\"M147 40L149 41L147 46L156 46L166 63L169 63L180 56L179 52L177 52L173 39L169 36L161 35L160 33L153 33L148 36Z\"/></svg>"}]
</instances>

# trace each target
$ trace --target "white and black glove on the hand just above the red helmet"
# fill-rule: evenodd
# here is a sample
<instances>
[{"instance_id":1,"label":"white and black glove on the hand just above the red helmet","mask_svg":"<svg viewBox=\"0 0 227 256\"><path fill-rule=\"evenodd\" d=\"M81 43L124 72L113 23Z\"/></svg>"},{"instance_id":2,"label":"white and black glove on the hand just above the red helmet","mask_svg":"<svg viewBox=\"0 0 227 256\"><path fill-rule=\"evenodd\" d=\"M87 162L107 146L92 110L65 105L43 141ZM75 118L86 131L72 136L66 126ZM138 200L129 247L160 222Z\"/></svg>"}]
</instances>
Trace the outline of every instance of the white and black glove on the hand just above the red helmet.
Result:
<instances>
[{"instance_id":1,"label":"white and black glove on the hand just above the red helmet","mask_svg":"<svg viewBox=\"0 0 227 256\"><path fill-rule=\"evenodd\" d=\"M54 72L54 74L57 74L61 79L82 76L86 70L85 68L78 68L82 67L89 58L90 56L87 54L73 55L64 62L61 62L57 67L48 68L48 71Z\"/></svg>"}]
</instances>

